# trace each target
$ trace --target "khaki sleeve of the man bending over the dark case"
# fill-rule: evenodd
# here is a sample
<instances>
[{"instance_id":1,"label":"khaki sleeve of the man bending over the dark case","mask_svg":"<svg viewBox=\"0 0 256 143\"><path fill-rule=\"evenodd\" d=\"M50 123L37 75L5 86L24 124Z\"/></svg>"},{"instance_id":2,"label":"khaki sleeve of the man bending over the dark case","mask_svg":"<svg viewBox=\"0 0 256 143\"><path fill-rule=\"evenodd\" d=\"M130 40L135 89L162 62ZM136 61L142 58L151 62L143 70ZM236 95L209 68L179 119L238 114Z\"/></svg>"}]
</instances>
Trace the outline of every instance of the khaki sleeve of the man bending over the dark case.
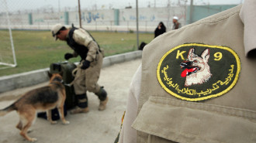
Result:
<instances>
[{"instance_id":1,"label":"khaki sleeve of the man bending over the dark case","mask_svg":"<svg viewBox=\"0 0 256 143\"><path fill-rule=\"evenodd\" d=\"M88 47L88 53L85 60L92 62L95 60L97 51L99 49L98 46L95 46L95 43L92 37L86 32L84 29L74 30L73 39L76 43L84 45Z\"/></svg>"}]
</instances>

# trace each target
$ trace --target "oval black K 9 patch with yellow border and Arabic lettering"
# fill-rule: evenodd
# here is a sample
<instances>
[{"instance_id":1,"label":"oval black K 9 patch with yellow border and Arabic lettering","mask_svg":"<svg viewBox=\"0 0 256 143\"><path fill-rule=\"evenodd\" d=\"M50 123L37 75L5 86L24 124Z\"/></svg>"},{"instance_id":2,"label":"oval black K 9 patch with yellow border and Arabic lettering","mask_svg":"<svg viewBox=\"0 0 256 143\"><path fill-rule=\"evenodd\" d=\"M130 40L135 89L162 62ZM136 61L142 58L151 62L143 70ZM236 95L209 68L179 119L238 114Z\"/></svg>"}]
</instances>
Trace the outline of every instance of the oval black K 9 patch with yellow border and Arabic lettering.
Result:
<instances>
[{"instance_id":1,"label":"oval black K 9 patch with yellow border and Arabic lettering","mask_svg":"<svg viewBox=\"0 0 256 143\"><path fill-rule=\"evenodd\" d=\"M157 79L172 96L200 101L226 94L237 83L240 59L233 49L185 43L162 56Z\"/></svg>"}]
</instances>

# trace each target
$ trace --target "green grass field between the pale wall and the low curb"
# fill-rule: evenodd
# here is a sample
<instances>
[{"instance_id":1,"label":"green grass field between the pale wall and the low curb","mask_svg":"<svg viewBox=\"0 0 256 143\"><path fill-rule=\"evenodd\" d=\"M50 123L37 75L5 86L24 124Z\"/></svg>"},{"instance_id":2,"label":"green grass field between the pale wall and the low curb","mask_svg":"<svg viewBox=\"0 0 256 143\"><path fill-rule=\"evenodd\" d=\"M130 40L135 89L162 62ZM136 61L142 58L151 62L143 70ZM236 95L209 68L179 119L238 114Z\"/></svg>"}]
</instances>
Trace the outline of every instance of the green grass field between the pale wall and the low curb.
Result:
<instances>
[{"instance_id":1,"label":"green grass field between the pale wall and the low curb","mask_svg":"<svg viewBox=\"0 0 256 143\"><path fill-rule=\"evenodd\" d=\"M136 33L128 32L91 32L92 36L105 51L105 56L126 53L137 50ZM2 30L0 36L9 36L9 32ZM31 70L47 68L50 63L64 61L65 53L73 53L72 49L63 41L55 41L50 31L12 31L16 60L18 66L0 70L0 77L23 73ZM140 33L140 43L150 43L153 33ZM9 39L0 38L0 53L5 53ZM1 56L0 55L0 56ZM0 59L1 60L1 59ZM71 62L78 62L80 58L73 58ZM1 61L0 61L1 62Z\"/></svg>"}]
</instances>

